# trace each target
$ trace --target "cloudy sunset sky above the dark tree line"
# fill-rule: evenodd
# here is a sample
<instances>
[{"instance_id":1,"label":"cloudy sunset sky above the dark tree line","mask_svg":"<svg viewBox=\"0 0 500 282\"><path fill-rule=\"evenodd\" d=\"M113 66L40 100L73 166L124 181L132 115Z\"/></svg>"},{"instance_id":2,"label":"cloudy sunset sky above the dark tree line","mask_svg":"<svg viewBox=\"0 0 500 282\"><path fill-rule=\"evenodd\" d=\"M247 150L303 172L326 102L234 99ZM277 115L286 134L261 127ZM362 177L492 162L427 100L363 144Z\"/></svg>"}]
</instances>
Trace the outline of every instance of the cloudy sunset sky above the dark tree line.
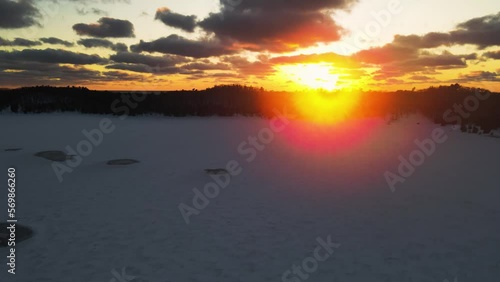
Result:
<instances>
[{"instance_id":1,"label":"cloudy sunset sky above the dark tree line","mask_svg":"<svg viewBox=\"0 0 500 282\"><path fill-rule=\"evenodd\" d=\"M498 0L0 0L0 88L500 91Z\"/></svg>"}]
</instances>

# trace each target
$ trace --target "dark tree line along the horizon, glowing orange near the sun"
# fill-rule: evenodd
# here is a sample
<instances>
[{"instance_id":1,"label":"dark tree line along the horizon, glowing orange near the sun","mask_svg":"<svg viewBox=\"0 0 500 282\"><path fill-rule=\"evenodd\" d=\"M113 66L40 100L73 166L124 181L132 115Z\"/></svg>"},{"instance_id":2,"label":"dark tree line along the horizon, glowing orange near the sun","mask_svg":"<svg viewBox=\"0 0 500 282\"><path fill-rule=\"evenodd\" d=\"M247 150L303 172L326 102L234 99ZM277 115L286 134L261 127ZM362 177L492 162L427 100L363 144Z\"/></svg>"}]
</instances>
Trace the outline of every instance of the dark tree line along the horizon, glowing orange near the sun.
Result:
<instances>
[{"instance_id":1,"label":"dark tree line along the horizon, glowing orange near the sun","mask_svg":"<svg viewBox=\"0 0 500 282\"><path fill-rule=\"evenodd\" d=\"M463 130L466 130L467 124L477 125L486 132L500 128L500 95L485 89L453 84L418 91L366 91L357 94L359 100L350 114L352 118L398 119L420 113L437 124L460 124ZM0 111L271 117L273 109L284 108L298 115L294 95L307 93L267 91L242 85L165 92L111 92L74 86L36 86L0 90Z\"/></svg>"}]
</instances>

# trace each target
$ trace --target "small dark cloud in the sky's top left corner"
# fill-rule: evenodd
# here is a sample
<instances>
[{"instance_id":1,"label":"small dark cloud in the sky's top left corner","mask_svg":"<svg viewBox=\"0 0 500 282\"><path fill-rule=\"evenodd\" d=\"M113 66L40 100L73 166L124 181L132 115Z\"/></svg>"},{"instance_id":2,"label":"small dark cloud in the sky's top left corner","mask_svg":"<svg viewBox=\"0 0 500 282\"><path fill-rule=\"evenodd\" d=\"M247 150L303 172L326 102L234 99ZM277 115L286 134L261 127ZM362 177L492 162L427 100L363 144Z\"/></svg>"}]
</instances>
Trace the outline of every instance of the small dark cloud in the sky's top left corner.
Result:
<instances>
[{"instance_id":1,"label":"small dark cloud in the sky's top left corner","mask_svg":"<svg viewBox=\"0 0 500 282\"><path fill-rule=\"evenodd\" d=\"M0 28L13 29L38 25L40 12L33 0L0 0Z\"/></svg>"}]
</instances>

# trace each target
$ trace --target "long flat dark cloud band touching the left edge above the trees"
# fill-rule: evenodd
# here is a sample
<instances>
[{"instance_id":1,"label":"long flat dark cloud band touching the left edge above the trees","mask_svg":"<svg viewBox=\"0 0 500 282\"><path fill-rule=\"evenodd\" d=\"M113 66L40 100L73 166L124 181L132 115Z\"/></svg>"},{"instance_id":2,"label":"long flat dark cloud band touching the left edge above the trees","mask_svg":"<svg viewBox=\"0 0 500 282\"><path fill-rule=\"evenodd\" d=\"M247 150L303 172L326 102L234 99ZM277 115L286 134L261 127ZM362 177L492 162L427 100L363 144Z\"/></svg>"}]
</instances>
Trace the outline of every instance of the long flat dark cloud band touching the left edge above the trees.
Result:
<instances>
[{"instance_id":1,"label":"long flat dark cloud band touching the left edge above the trees","mask_svg":"<svg viewBox=\"0 0 500 282\"><path fill-rule=\"evenodd\" d=\"M38 62L49 64L91 65L106 63L107 60L98 55L74 53L55 49L25 49L22 51L0 51L0 61L4 62Z\"/></svg>"}]
</instances>

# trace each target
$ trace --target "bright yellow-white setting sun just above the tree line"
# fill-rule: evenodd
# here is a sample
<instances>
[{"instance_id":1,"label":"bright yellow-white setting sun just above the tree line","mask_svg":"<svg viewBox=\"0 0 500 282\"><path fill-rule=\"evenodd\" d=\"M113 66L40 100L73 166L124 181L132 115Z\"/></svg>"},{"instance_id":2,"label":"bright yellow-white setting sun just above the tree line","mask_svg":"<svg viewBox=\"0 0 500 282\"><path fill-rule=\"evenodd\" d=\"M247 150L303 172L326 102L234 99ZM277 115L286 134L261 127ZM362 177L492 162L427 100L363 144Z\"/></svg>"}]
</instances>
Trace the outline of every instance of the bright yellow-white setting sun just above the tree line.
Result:
<instances>
[{"instance_id":1,"label":"bright yellow-white setting sun just above the tree line","mask_svg":"<svg viewBox=\"0 0 500 282\"><path fill-rule=\"evenodd\" d=\"M339 75L333 73L329 64L296 64L280 66L280 71L287 79L310 89L332 91L338 89Z\"/></svg>"}]
</instances>

